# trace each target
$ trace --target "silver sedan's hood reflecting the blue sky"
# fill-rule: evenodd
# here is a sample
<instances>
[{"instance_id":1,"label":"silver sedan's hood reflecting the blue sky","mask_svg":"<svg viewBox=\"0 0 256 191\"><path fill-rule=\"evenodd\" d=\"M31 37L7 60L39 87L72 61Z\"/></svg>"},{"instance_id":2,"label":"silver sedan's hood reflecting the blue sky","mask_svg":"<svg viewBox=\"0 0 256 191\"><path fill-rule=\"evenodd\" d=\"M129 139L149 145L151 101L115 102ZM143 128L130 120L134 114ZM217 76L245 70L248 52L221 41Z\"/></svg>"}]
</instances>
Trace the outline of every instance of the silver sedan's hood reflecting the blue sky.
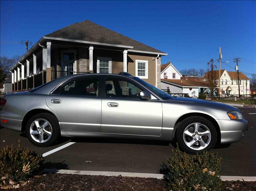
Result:
<instances>
[{"instance_id":1,"label":"silver sedan's hood reflecting the blue sky","mask_svg":"<svg viewBox=\"0 0 256 191\"><path fill-rule=\"evenodd\" d=\"M210 107L215 109L225 109L227 111L240 111L236 107L225 103L219 103L216 101L206 101L204 99L186 98L186 97L174 97L172 99L164 100L170 103L184 104L184 105L197 105L200 107Z\"/></svg>"}]
</instances>

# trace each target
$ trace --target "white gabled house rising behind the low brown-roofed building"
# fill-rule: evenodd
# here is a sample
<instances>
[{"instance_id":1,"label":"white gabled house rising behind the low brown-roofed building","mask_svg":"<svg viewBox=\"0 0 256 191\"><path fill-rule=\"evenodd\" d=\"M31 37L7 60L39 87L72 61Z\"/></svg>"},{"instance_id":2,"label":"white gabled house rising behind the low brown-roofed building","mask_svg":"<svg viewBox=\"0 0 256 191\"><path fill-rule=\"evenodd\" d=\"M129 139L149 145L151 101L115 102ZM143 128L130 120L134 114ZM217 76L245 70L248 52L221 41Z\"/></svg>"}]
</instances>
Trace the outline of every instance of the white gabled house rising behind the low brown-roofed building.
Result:
<instances>
[{"instance_id":1,"label":"white gabled house rising behind the low brown-roofed building","mask_svg":"<svg viewBox=\"0 0 256 191\"><path fill-rule=\"evenodd\" d=\"M180 72L172 65L172 63L161 65L161 79L176 79L180 80L182 75Z\"/></svg>"}]
</instances>

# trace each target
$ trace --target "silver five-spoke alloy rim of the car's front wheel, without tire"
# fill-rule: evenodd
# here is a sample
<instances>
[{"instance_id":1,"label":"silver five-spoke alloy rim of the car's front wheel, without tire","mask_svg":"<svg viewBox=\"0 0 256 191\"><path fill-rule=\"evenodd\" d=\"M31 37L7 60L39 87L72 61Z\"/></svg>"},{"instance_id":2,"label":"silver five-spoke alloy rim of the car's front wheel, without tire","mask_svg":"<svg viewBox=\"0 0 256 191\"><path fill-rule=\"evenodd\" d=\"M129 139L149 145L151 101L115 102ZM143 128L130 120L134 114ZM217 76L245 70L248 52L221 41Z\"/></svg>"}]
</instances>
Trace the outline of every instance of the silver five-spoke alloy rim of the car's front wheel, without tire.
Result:
<instances>
[{"instance_id":1,"label":"silver five-spoke alloy rim of the car's front wheel, without tire","mask_svg":"<svg viewBox=\"0 0 256 191\"><path fill-rule=\"evenodd\" d=\"M184 129L183 140L190 149L202 150L209 145L211 132L202 123L192 123Z\"/></svg>"}]
</instances>

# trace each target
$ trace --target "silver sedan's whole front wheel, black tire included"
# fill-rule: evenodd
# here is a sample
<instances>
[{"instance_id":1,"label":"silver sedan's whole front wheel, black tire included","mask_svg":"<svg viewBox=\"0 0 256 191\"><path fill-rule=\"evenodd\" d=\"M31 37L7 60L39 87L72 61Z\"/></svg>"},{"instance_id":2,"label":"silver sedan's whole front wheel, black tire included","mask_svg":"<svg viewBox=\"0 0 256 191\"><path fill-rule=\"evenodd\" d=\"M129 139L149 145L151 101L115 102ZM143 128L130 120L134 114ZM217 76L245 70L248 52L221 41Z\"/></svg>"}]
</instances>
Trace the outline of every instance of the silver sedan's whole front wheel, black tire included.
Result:
<instances>
[{"instance_id":1,"label":"silver sedan's whole front wheel, black tire included","mask_svg":"<svg viewBox=\"0 0 256 191\"><path fill-rule=\"evenodd\" d=\"M209 151L215 146L217 131L208 119L191 116L179 123L176 138L181 149L196 154Z\"/></svg>"}]
</instances>

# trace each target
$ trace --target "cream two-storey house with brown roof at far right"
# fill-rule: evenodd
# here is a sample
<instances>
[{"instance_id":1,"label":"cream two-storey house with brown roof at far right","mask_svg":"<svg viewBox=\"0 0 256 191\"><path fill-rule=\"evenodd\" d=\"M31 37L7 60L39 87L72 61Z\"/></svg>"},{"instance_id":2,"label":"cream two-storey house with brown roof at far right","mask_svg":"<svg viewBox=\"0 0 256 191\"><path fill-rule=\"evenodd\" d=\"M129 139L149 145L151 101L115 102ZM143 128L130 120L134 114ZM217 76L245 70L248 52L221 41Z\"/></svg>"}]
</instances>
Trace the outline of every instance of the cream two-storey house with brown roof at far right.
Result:
<instances>
[{"instance_id":1,"label":"cream two-storey house with brown roof at far right","mask_svg":"<svg viewBox=\"0 0 256 191\"><path fill-rule=\"evenodd\" d=\"M219 77L219 71L216 76ZM207 72L204 78L207 77ZM239 72L239 84L240 84L240 94L246 95L250 94L250 78L245 76L242 72ZM237 72L229 72L224 70L220 70L220 94L222 95L238 95L238 75Z\"/></svg>"}]
</instances>

